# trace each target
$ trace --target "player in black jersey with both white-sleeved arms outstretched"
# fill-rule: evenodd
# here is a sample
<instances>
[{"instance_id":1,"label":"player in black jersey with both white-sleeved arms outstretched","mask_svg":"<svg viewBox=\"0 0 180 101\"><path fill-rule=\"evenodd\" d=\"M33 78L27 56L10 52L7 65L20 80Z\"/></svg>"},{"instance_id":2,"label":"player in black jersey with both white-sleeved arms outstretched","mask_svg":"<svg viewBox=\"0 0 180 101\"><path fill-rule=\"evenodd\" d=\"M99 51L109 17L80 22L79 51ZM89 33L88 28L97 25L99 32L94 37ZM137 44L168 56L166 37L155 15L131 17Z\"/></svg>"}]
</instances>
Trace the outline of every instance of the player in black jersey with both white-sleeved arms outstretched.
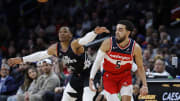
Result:
<instances>
[{"instance_id":1,"label":"player in black jersey with both white-sleeved arms outstretched","mask_svg":"<svg viewBox=\"0 0 180 101\"><path fill-rule=\"evenodd\" d=\"M93 41L98 34L104 32L110 33L105 27L96 27L94 31L87 33L84 37L72 41L70 29L61 27L59 30L59 42L51 45L45 51L39 51L24 57L10 58L8 64L12 66L57 56L73 71L72 78L64 90L62 101L81 101L82 96L83 101L93 101L95 93L89 89L88 85L84 87L85 81L88 81L91 66L91 62L84 51L84 45Z\"/></svg>"}]
</instances>

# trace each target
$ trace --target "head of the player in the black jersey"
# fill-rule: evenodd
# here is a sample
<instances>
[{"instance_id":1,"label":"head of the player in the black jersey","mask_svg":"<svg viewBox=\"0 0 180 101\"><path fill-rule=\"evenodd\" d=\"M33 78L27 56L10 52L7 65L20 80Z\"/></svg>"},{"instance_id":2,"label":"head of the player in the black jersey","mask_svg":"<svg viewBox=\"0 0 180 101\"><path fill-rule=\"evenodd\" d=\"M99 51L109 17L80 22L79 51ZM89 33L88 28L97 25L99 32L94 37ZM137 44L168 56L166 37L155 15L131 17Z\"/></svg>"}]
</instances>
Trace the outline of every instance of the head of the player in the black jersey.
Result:
<instances>
[{"instance_id":1,"label":"head of the player in the black jersey","mask_svg":"<svg viewBox=\"0 0 180 101\"><path fill-rule=\"evenodd\" d=\"M63 26L59 29L59 41L65 42L72 39L72 33L69 27Z\"/></svg>"}]
</instances>

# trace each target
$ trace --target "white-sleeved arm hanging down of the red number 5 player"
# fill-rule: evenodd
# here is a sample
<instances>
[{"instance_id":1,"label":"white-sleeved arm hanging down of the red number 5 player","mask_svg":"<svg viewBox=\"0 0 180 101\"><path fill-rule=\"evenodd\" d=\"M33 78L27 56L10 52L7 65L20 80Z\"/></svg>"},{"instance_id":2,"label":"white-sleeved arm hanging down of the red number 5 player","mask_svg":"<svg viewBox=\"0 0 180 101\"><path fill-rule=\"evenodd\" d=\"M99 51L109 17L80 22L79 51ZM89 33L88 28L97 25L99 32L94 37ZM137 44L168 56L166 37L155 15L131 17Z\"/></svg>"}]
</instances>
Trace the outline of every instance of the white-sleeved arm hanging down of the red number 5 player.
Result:
<instances>
[{"instance_id":1,"label":"white-sleeved arm hanging down of the red number 5 player","mask_svg":"<svg viewBox=\"0 0 180 101\"><path fill-rule=\"evenodd\" d=\"M89 87L92 91L96 91L94 89L94 83L93 83L93 80L94 80L94 77L97 73L97 71L100 69L100 65L101 65L101 62L102 60L104 59L106 53L110 50L110 39L106 39L102 44L101 44L101 47L99 48L98 50L98 53L97 53L97 56L96 56L96 59L93 63L93 66L91 68L91 72L90 72L90 79L89 79Z\"/></svg>"}]
</instances>

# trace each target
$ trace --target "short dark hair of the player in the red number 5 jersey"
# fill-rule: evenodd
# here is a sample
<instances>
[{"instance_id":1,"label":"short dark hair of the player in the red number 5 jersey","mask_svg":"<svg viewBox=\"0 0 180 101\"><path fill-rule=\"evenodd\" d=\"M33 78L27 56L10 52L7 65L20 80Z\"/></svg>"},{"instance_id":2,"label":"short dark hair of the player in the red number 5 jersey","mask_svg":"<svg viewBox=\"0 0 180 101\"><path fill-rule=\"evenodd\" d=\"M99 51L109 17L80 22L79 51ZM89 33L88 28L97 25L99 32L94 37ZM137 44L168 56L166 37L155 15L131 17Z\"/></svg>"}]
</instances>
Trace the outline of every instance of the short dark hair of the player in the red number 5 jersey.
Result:
<instances>
[{"instance_id":1,"label":"short dark hair of the player in the red number 5 jersey","mask_svg":"<svg viewBox=\"0 0 180 101\"><path fill-rule=\"evenodd\" d=\"M128 31L133 31L133 29L135 28L134 24L131 21L129 21L129 20L120 20L118 22L118 24L125 25L126 26L126 30L128 30Z\"/></svg>"}]
</instances>

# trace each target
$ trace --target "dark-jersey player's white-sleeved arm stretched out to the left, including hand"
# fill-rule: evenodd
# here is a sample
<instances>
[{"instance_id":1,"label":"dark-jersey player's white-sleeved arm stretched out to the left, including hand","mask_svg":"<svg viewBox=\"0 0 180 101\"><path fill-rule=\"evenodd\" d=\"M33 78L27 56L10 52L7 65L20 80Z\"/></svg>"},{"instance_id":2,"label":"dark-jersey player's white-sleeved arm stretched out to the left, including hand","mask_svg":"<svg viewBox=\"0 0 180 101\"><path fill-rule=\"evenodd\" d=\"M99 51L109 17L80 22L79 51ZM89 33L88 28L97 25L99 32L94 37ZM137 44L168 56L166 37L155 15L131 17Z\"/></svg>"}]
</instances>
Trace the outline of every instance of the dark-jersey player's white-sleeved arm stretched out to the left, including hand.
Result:
<instances>
[{"instance_id":1,"label":"dark-jersey player's white-sleeved arm stretched out to the left, including hand","mask_svg":"<svg viewBox=\"0 0 180 101\"><path fill-rule=\"evenodd\" d=\"M57 56L57 43L51 45L47 50L38 51L24 57L16 57L8 59L9 66L16 64L26 63L26 62L36 62L45 58L49 58L52 55Z\"/></svg>"}]
</instances>

